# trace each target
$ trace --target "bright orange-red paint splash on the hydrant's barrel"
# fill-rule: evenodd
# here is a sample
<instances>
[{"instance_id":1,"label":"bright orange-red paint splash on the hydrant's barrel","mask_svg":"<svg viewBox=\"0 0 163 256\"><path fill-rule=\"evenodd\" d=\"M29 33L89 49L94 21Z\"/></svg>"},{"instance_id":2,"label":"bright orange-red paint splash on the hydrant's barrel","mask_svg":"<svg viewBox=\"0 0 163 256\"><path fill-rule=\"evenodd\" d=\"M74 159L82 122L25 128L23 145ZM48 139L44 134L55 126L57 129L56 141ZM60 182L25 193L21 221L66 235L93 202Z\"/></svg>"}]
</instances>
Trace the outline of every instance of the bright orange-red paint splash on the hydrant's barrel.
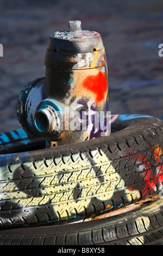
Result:
<instances>
[{"instance_id":1,"label":"bright orange-red paint splash on the hydrant's barrel","mask_svg":"<svg viewBox=\"0 0 163 256\"><path fill-rule=\"evenodd\" d=\"M87 76L83 82L83 87L90 90L96 95L96 102L104 100L107 90L107 79L102 71L99 71L96 76Z\"/></svg>"}]
</instances>

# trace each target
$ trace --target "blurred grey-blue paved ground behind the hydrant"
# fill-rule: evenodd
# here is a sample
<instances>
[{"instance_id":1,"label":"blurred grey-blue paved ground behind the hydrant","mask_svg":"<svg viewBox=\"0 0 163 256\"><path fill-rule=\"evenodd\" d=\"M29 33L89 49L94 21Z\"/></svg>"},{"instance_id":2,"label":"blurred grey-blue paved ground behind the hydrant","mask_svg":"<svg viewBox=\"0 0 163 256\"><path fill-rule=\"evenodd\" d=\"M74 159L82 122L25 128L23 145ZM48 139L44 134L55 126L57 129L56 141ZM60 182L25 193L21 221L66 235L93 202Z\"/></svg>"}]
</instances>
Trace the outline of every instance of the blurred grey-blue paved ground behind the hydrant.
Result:
<instances>
[{"instance_id":1,"label":"blurred grey-blue paved ground behind the hydrant","mask_svg":"<svg viewBox=\"0 0 163 256\"><path fill-rule=\"evenodd\" d=\"M1 0L0 131L21 127L17 97L27 82L45 75L49 34L76 19L102 35L111 113L163 118L162 11L159 0Z\"/></svg>"}]
</instances>

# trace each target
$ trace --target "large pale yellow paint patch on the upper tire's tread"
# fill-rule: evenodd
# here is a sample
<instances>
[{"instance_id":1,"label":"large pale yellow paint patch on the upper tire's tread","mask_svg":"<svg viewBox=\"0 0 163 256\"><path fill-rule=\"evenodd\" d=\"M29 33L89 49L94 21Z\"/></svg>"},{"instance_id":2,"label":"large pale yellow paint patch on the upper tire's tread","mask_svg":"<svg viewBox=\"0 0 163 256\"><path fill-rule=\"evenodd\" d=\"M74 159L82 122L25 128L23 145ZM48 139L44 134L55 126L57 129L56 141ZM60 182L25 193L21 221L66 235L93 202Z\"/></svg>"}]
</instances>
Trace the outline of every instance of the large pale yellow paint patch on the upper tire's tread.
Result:
<instances>
[{"instance_id":1,"label":"large pale yellow paint patch on the upper tire's tread","mask_svg":"<svg viewBox=\"0 0 163 256\"><path fill-rule=\"evenodd\" d=\"M89 208L92 197L105 202L112 198L115 190L121 190L125 187L123 179L112 167L112 162L108 160L108 156L102 150L101 154L98 150L91 151L91 154L93 160L89 153L82 153L83 160L78 154L73 155L75 162L72 162L70 156L55 159L57 166L52 160L46 160L48 167L43 160L37 161L35 162L37 169L31 163L24 163L24 168L32 172L35 178L37 177L36 182L39 184L40 197L30 196L30 185L29 188L27 186L26 190L20 191L14 182L9 182L4 186L1 198L13 200L20 204L24 210L28 207L28 213L32 211L32 208L29 209L30 206L51 202L54 212L57 215L59 212L61 218L67 218L67 212L70 216L76 215L76 211L79 214L82 212L84 214L85 209ZM99 173L98 167L100 167ZM16 171L18 164L12 165L10 168ZM14 175L14 172L8 173L8 175ZM14 176L12 178L14 179ZM139 191L127 190L126 199L128 198L129 201L131 194L133 199L140 198ZM106 209L110 207L110 205L106 205Z\"/></svg>"}]
</instances>

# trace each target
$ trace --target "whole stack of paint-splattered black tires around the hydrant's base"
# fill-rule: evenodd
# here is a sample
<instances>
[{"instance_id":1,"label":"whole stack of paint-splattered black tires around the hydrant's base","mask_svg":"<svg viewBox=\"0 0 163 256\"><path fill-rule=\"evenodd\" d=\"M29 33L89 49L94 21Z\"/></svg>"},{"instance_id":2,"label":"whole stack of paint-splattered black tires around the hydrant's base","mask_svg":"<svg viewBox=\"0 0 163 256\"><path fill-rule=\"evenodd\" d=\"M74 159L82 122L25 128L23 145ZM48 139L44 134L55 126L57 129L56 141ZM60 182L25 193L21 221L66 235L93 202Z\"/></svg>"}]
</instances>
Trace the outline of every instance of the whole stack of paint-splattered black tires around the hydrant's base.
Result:
<instances>
[{"instance_id":1,"label":"whole stack of paint-splattered black tires around the hydrant's base","mask_svg":"<svg viewBox=\"0 0 163 256\"><path fill-rule=\"evenodd\" d=\"M0 136L1 245L162 240L163 121L141 115L112 120L109 136L51 149L29 133Z\"/></svg>"}]
</instances>

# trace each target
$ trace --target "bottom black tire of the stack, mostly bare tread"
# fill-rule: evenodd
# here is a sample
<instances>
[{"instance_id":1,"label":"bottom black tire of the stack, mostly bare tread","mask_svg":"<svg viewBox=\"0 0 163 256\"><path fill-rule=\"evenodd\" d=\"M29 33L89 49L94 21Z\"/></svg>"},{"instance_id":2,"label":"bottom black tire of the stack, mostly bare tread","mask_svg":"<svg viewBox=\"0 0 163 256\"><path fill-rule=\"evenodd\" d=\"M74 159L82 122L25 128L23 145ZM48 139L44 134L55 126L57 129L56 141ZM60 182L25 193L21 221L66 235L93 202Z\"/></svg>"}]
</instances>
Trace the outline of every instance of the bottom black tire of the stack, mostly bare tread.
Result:
<instances>
[{"instance_id":1,"label":"bottom black tire of the stack, mostly bare tread","mask_svg":"<svg viewBox=\"0 0 163 256\"><path fill-rule=\"evenodd\" d=\"M0 245L162 245L162 237L163 199L158 198L97 220L1 230Z\"/></svg>"}]
</instances>

